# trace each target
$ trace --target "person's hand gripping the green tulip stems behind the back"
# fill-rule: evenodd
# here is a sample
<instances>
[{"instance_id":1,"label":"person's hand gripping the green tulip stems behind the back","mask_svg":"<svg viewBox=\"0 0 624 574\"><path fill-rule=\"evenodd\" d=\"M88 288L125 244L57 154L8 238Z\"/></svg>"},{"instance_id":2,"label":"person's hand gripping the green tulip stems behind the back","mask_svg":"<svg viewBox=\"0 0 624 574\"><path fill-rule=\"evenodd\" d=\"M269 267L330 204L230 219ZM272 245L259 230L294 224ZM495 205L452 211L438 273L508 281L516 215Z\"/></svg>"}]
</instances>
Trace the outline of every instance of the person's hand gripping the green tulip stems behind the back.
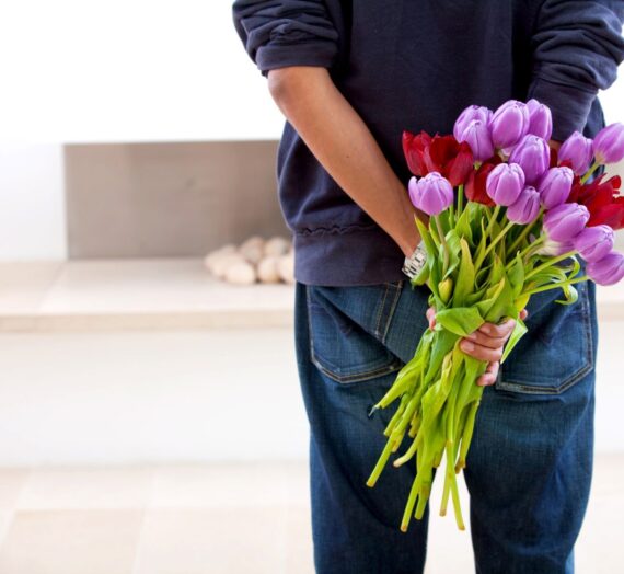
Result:
<instances>
[{"instance_id":1,"label":"person's hand gripping the green tulip stems behind the back","mask_svg":"<svg viewBox=\"0 0 624 574\"><path fill-rule=\"evenodd\" d=\"M527 309L520 313L520 319L527 319ZM436 310L432 307L427 309L427 320L429 321L429 329L436 325ZM505 343L511 336L516 321L509 321L495 325L494 323L484 323L474 333L465 336L460 343L461 349L471 357L478 360L487 360L487 369L476 380L481 387L487 387L496 382L498 377L498 369L500 368L500 357L502 357L502 348Z\"/></svg>"}]
</instances>

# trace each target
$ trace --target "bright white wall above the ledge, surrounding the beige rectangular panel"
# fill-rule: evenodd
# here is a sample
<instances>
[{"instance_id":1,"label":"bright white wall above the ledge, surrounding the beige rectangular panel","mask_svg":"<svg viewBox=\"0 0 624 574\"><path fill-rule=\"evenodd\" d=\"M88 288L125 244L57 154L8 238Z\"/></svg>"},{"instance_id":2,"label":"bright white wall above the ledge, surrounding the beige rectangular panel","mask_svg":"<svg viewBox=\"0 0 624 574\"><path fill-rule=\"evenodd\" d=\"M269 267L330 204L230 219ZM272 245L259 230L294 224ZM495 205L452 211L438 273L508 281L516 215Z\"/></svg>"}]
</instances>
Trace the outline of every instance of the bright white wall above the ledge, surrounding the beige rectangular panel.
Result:
<instances>
[{"instance_id":1,"label":"bright white wall above the ledge, surrounding the beige rectangular panel","mask_svg":"<svg viewBox=\"0 0 624 574\"><path fill-rule=\"evenodd\" d=\"M61 142L279 137L231 3L0 3L0 260L66 256ZM624 80L603 101L623 120Z\"/></svg>"}]
</instances>

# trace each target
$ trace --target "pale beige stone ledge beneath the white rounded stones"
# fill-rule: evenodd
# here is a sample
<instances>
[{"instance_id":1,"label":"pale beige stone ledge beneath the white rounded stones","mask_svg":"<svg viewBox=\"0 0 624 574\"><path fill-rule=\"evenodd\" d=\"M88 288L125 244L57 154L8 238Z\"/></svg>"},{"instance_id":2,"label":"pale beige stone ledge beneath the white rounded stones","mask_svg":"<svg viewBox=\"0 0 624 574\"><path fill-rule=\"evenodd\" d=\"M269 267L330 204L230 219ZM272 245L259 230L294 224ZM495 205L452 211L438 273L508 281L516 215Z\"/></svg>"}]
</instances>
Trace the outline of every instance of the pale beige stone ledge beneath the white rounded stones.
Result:
<instances>
[{"instance_id":1,"label":"pale beige stone ledge beneath the white rounded stones","mask_svg":"<svg viewBox=\"0 0 624 574\"><path fill-rule=\"evenodd\" d=\"M598 290L624 321L624 285ZM233 286L199 259L0 264L0 332L288 328L291 285Z\"/></svg>"}]
</instances>

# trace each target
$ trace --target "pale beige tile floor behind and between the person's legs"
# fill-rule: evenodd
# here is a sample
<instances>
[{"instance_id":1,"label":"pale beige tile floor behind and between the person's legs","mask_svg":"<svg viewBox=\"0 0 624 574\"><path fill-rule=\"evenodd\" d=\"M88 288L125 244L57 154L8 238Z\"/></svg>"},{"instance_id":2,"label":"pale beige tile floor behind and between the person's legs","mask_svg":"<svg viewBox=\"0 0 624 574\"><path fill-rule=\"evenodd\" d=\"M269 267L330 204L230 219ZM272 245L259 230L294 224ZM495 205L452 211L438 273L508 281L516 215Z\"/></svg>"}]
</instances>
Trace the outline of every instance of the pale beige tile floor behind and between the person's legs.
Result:
<instances>
[{"instance_id":1,"label":"pale beige tile floor behind and between the person's legs","mask_svg":"<svg viewBox=\"0 0 624 574\"><path fill-rule=\"evenodd\" d=\"M0 574L311 574L307 482L301 462L0 470ZM624 455L599 456L578 574L621 572L622 484ZM427 573L472 571L434 516Z\"/></svg>"}]
</instances>

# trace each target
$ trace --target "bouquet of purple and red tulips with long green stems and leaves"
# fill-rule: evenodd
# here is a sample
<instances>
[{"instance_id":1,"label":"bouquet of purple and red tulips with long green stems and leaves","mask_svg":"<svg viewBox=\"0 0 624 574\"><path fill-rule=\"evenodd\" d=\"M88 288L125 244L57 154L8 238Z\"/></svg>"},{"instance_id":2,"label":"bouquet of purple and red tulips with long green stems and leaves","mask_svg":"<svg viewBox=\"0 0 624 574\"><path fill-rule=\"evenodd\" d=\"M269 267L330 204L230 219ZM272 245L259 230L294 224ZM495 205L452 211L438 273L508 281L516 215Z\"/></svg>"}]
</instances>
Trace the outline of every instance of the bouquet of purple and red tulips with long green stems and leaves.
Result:
<instances>
[{"instance_id":1,"label":"bouquet of purple and red tulips with long green stems and leaves","mask_svg":"<svg viewBox=\"0 0 624 574\"><path fill-rule=\"evenodd\" d=\"M624 276L624 256L613 251L613 230L624 227L620 177L590 182L599 167L624 158L624 125L593 140L575 133L558 152L551 135L551 111L535 100L496 112L470 106L452 136L403 135L414 174L409 197L428 216L428 223L416 218L427 262L412 284L429 287L436 324L373 407L396 404L367 482L374 485L393 454L395 467L415 462L403 531L412 516L423 517L444 456L440 514L451 497L464 529L455 474L466 464L483 393L475 381L487 364L465 355L461 338L484 322L513 319L504 361L527 332L521 311L531 295L562 289L557 302L571 305L575 284L612 285Z\"/></svg>"}]
</instances>

